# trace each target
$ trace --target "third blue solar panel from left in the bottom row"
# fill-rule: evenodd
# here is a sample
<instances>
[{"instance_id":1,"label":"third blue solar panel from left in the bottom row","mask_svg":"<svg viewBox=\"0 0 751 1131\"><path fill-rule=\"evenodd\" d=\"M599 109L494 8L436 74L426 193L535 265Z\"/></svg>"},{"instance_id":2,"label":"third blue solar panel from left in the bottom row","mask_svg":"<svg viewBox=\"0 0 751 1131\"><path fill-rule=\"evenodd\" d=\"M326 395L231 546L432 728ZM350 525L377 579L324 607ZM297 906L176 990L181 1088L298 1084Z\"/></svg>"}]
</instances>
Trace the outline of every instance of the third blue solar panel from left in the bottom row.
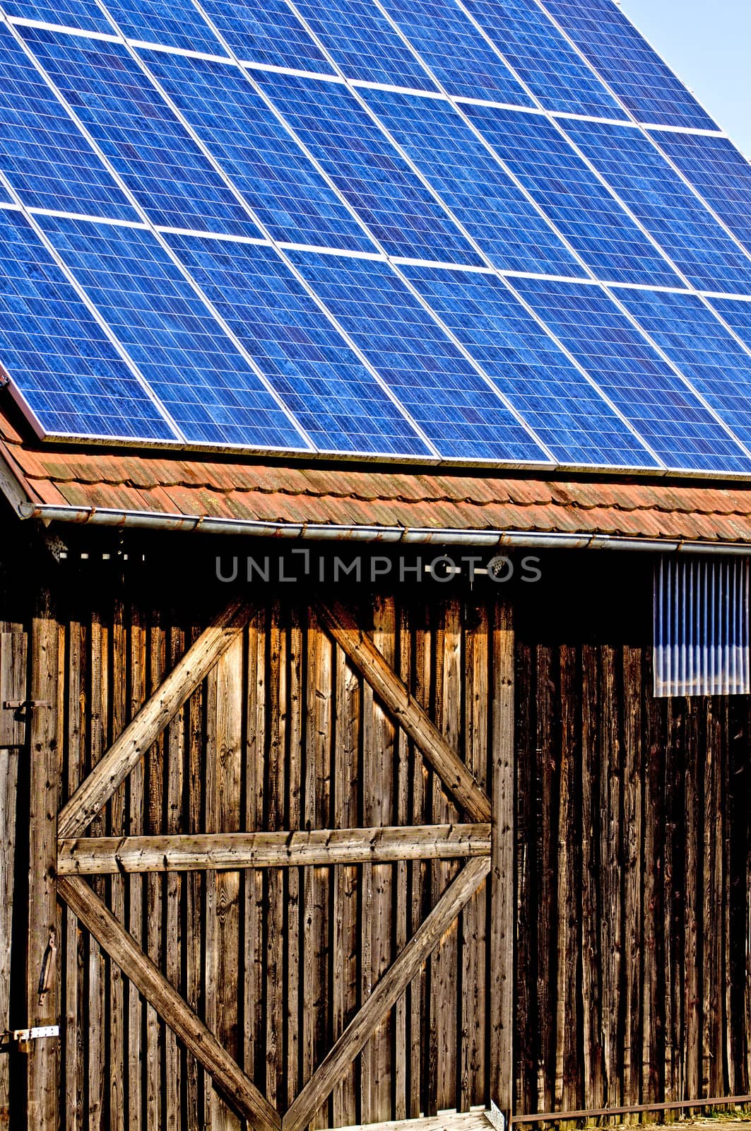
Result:
<instances>
[{"instance_id":1,"label":"third blue solar panel from left in the bottom row","mask_svg":"<svg viewBox=\"0 0 751 1131\"><path fill-rule=\"evenodd\" d=\"M430 451L270 248L170 243L322 451Z\"/></svg>"}]
</instances>

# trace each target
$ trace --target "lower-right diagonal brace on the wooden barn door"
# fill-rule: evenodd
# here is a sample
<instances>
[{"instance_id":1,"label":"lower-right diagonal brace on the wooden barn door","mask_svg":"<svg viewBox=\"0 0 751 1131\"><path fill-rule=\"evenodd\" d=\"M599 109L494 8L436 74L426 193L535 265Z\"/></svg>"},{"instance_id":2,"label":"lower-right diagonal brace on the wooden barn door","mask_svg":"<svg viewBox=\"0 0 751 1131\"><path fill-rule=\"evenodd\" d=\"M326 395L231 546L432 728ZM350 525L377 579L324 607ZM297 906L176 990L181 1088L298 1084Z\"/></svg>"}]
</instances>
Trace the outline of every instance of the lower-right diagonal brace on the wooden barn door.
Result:
<instances>
[{"instance_id":1,"label":"lower-right diagonal brace on the wooden barn door","mask_svg":"<svg viewBox=\"0 0 751 1131\"><path fill-rule=\"evenodd\" d=\"M364 1047L383 1016L415 977L490 871L489 857L471 860L446 889L370 998L319 1064L282 1120L283 1131L302 1131Z\"/></svg>"}]
</instances>

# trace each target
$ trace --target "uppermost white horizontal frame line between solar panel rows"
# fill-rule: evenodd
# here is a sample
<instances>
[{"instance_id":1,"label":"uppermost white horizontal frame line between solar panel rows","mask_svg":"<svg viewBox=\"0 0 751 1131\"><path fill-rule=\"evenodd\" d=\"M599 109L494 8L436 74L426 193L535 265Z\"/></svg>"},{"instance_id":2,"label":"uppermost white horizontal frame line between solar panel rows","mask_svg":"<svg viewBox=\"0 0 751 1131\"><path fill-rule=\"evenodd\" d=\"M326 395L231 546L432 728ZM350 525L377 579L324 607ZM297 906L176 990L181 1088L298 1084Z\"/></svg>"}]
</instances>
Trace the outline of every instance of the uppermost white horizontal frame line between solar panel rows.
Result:
<instances>
[{"instance_id":1,"label":"uppermost white horizontal frame line between solar panel rows","mask_svg":"<svg viewBox=\"0 0 751 1131\"><path fill-rule=\"evenodd\" d=\"M62 24L49 24L44 20L38 19L27 19L20 16L6 16L0 12L0 20L7 24L14 24L19 27L34 27L46 32L58 32L66 35L77 35L79 38L84 40L101 40L104 43L127 43L129 46L135 49L143 49L145 51L162 51L165 54L182 55L187 59L202 59L206 62L213 63L234 63L247 70L259 70L259 71L270 71L278 75L292 75L299 78L314 78L321 83L346 83L352 87L360 87L362 89L374 89L374 90L390 90L394 94L414 94L421 98L446 98L447 95L441 90L423 90L416 87L409 86L396 86L390 83L373 83L368 79L355 79L345 75L342 71L338 75L325 75L320 71L309 71L300 70L294 67L277 67L273 63L261 63L252 59L243 59L241 55L236 58L228 58L227 55L209 54L206 51L190 51L188 48L179 48L172 44L155 43L150 40L136 40L130 36L120 35L107 35L104 32L92 32L84 31L79 27L69 27ZM333 63L336 66L336 63ZM519 80L521 81L521 80ZM718 137L727 138L730 140L730 135L725 130L706 130L699 127L691 126L656 126L654 123L640 122L636 118L631 118L628 121L623 121L618 118L602 118L597 114L575 114L564 110L546 110L542 104L534 106L519 106L510 102L498 102L493 98L473 98L467 95L451 95L454 102L466 103L467 105L477 106L494 106L499 110L513 110L520 114L537 114L539 116L546 118L560 118L561 120L570 119L572 121L582 122L601 122L604 126L621 126L628 129L645 129L645 130L662 130L664 132L674 133L690 133L697 135L698 137ZM536 96L530 93L530 97L538 102Z\"/></svg>"}]
</instances>

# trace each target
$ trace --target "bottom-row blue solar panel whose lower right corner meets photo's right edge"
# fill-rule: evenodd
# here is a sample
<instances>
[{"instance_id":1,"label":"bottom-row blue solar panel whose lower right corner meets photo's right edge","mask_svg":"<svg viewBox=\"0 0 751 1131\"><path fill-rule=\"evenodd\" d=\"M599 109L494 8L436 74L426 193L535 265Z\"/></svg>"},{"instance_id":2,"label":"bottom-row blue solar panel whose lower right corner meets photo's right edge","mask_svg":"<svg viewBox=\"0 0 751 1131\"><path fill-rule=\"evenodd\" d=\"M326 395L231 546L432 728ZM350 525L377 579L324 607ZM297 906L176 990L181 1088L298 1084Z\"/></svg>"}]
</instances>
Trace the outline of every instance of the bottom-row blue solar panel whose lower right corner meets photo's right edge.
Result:
<instances>
[{"instance_id":1,"label":"bottom-row blue solar panel whose lower right corner meets photo's right edge","mask_svg":"<svg viewBox=\"0 0 751 1131\"><path fill-rule=\"evenodd\" d=\"M515 286L668 467L749 472L727 432L597 286Z\"/></svg>"}]
</instances>

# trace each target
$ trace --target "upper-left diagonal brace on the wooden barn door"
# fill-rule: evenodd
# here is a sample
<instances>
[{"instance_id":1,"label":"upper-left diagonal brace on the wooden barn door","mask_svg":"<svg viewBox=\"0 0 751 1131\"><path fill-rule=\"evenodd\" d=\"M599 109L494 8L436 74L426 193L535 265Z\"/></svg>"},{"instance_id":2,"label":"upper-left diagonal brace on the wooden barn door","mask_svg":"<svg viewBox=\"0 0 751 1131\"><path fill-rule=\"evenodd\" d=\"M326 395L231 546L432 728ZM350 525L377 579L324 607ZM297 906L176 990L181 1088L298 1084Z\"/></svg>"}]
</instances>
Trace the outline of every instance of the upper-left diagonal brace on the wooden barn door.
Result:
<instances>
[{"instance_id":1,"label":"upper-left diagonal brace on the wooden barn door","mask_svg":"<svg viewBox=\"0 0 751 1131\"><path fill-rule=\"evenodd\" d=\"M184 702L248 623L250 610L234 599L201 632L141 707L58 815L58 835L77 837L159 737Z\"/></svg>"}]
</instances>

